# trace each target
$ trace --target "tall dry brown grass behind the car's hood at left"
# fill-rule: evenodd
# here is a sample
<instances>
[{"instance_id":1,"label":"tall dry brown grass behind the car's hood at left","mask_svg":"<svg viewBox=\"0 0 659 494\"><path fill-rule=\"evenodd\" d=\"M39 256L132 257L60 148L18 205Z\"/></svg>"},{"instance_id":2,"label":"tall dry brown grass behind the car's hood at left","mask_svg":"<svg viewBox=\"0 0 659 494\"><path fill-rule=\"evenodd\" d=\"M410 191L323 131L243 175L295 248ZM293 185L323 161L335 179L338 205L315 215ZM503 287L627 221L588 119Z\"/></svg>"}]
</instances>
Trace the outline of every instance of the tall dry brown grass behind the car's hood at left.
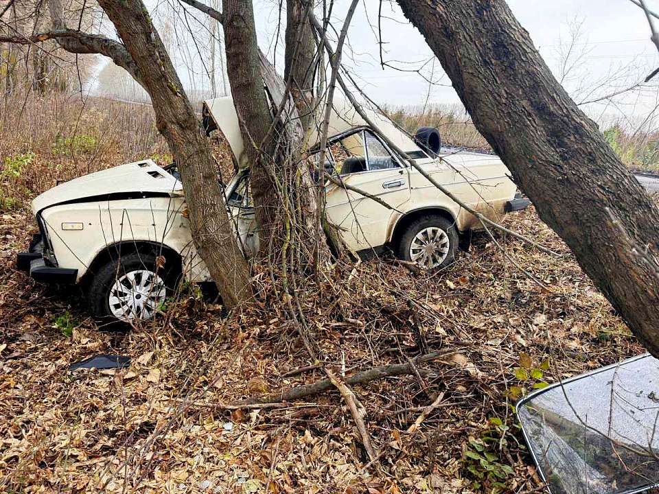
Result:
<instances>
[{"instance_id":1,"label":"tall dry brown grass behind the car's hood at left","mask_svg":"<svg viewBox=\"0 0 659 494\"><path fill-rule=\"evenodd\" d=\"M150 106L58 93L1 104L0 211L27 207L57 180L145 157L171 161Z\"/></svg>"}]
</instances>

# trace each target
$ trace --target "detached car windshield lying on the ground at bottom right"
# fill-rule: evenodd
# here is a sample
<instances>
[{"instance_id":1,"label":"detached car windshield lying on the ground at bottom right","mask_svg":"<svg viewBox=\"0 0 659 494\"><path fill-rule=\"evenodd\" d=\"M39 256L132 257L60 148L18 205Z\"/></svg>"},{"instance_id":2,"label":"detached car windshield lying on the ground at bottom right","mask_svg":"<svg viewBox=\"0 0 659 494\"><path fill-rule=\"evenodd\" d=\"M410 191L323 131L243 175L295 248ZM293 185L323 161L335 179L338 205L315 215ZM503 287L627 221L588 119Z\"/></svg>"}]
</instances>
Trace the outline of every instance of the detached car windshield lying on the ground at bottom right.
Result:
<instances>
[{"instance_id":1,"label":"detached car windshield lying on the ground at bottom right","mask_svg":"<svg viewBox=\"0 0 659 494\"><path fill-rule=\"evenodd\" d=\"M642 355L557 383L517 407L552 494L629 494L659 484L659 360Z\"/></svg>"}]
</instances>

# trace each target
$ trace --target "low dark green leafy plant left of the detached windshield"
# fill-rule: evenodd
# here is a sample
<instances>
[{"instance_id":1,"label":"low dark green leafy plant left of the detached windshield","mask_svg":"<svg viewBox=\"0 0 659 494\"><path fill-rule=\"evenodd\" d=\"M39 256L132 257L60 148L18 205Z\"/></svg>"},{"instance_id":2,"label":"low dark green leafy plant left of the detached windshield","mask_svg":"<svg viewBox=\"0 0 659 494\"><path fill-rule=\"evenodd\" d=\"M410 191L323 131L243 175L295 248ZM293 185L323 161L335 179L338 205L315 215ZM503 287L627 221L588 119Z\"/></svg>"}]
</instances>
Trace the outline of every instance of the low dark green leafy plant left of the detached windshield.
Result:
<instances>
[{"instance_id":1,"label":"low dark green leafy plant left of the detached windshield","mask_svg":"<svg viewBox=\"0 0 659 494\"><path fill-rule=\"evenodd\" d=\"M462 464L474 491L498 494L505 491L505 480L514 473L513 467L501 460L499 453L508 443L506 436L510 427L498 417L490 418L488 424L480 436L467 441Z\"/></svg>"}]
</instances>

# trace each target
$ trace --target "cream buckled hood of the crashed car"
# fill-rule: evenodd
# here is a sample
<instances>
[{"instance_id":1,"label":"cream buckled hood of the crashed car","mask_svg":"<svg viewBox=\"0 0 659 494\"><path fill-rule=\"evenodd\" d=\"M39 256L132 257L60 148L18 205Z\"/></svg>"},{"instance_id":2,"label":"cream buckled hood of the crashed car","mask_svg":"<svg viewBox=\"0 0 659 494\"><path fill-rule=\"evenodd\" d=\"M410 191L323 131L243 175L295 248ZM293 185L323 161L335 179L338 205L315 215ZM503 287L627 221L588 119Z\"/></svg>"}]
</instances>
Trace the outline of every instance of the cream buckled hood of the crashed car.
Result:
<instances>
[{"instance_id":1,"label":"cream buckled hood of the crashed car","mask_svg":"<svg viewBox=\"0 0 659 494\"><path fill-rule=\"evenodd\" d=\"M104 169L53 187L32 201L32 211L38 213L56 204L71 202L182 194L181 182L148 159Z\"/></svg>"}]
</instances>

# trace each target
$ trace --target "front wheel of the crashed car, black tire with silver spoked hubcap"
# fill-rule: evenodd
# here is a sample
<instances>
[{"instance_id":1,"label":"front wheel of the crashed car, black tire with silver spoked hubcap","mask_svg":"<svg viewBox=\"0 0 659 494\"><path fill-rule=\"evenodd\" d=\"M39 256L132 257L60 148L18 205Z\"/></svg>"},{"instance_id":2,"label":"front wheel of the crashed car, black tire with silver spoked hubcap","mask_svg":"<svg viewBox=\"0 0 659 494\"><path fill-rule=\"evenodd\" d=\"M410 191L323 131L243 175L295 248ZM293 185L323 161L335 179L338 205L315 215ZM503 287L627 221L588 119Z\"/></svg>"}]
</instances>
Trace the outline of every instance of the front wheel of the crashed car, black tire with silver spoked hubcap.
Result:
<instances>
[{"instance_id":1,"label":"front wheel of the crashed car, black tire with silver spoked hubcap","mask_svg":"<svg viewBox=\"0 0 659 494\"><path fill-rule=\"evenodd\" d=\"M94 318L107 324L152 318L174 294L181 272L180 266L162 259L153 252L133 252L100 266L86 286Z\"/></svg>"}]
</instances>

